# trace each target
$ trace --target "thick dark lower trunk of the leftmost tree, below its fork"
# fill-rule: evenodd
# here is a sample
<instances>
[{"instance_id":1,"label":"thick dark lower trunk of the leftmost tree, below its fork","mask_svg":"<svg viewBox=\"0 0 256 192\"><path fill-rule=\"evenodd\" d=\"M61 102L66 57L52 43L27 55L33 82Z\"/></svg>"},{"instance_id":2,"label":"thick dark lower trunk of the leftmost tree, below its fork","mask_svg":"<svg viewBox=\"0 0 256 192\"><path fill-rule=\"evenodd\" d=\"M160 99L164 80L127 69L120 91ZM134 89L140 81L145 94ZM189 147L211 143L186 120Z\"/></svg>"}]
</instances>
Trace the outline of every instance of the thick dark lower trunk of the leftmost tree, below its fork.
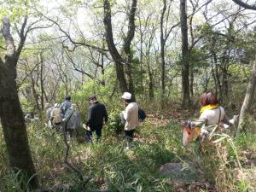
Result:
<instances>
[{"instance_id":1,"label":"thick dark lower trunk of the leftmost tree, below its fork","mask_svg":"<svg viewBox=\"0 0 256 192\"><path fill-rule=\"evenodd\" d=\"M6 65L9 65L6 63ZM32 186L37 187L38 181L33 166L32 156L26 135L26 125L20 108L15 79L3 75L0 80L0 117L3 135L9 155L9 165L25 171L28 178L32 177Z\"/></svg>"}]
</instances>

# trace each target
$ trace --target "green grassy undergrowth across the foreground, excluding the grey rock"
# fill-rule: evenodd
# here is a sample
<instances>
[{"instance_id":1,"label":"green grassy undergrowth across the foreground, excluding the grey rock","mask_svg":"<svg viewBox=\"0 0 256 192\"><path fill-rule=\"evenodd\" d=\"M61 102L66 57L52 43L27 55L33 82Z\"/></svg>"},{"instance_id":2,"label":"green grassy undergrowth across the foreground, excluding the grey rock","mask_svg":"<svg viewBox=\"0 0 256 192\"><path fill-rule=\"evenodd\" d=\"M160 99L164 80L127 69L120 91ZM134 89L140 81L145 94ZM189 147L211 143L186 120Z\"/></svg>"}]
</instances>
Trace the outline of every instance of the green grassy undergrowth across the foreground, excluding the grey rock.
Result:
<instances>
[{"instance_id":1,"label":"green grassy undergrowth across the foreground, excluding the grey rock","mask_svg":"<svg viewBox=\"0 0 256 192\"><path fill-rule=\"evenodd\" d=\"M166 119L166 124L155 125L151 122L152 119L148 118L137 128L133 148L125 150L123 132L119 130L119 122L114 120L118 119L118 113L113 112L112 116L108 126L103 129L100 143L85 143L82 129L79 130L78 138L70 141L69 162L79 168L84 178L92 175L86 185L88 190L108 187L111 192L173 191L174 186L169 182L169 177L160 176L160 166L170 162L193 162L199 166L204 180L215 184L216 189L253 191L252 183L245 177L236 179L235 170L236 160L241 162L242 168L246 166L245 158L248 157L244 151L248 151L253 160L253 152L256 151L254 133L243 133L232 139L235 150L230 148L230 144L225 144L227 158L224 161L214 148L207 154L199 152L196 143L184 148L181 145L182 128L176 119ZM79 177L63 163L65 145L62 133L45 127L40 122L28 125L27 132L40 183L46 188L71 183L72 191L79 192ZM20 192L22 189L17 189L17 183L21 182L19 178L22 177L9 172L2 131L0 139L0 191ZM222 174L217 174L220 168ZM220 177L221 175L225 177ZM188 177L195 175L185 175L183 180L189 181ZM231 188L217 182L230 184Z\"/></svg>"}]
</instances>

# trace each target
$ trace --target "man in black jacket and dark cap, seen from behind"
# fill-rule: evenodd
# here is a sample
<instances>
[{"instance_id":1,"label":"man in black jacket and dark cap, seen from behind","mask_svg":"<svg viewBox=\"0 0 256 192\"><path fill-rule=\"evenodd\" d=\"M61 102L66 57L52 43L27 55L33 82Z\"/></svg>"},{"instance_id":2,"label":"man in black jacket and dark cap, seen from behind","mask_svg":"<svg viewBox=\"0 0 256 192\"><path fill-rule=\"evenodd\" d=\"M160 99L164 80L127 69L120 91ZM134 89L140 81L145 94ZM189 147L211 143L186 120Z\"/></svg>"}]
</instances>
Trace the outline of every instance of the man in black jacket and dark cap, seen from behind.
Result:
<instances>
[{"instance_id":1,"label":"man in black jacket and dark cap, seen from behind","mask_svg":"<svg viewBox=\"0 0 256 192\"><path fill-rule=\"evenodd\" d=\"M96 141L102 137L103 121L108 122L108 113L105 106L98 102L96 96L89 96L90 108L88 110L88 120L86 126L90 129L86 131L86 137L92 143L92 133L96 131Z\"/></svg>"}]
</instances>

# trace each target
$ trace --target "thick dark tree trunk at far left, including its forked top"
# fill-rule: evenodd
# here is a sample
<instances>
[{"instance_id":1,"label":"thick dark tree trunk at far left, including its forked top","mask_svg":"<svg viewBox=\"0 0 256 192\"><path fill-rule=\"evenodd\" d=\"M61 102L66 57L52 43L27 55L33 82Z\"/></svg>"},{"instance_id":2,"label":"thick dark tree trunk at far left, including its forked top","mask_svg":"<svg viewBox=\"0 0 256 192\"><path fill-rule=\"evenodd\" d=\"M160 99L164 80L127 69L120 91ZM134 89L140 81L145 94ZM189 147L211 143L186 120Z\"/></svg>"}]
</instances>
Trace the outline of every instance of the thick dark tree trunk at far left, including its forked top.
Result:
<instances>
[{"instance_id":1,"label":"thick dark tree trunk at far left, including its forked top","mask_svg":"<svg viewBox=\"0 0 256 192\"><path fill-rule=\"evenodd\" d=\"M26 20L23 27L26 26ZM38 188L38 177L32 161L28 145L26 124L16 84L16 65L25 39L15 50L14 39L10 34L9 20L3 19L2 33L6 42L7 54L3 62L0 58L0 118L3 126L3 136L9 156L9 166L25 172L32 189ZM21 33L20 33L21 34ZM21 34L22 35L22 34Z\"/></svg>"}]
</instances>

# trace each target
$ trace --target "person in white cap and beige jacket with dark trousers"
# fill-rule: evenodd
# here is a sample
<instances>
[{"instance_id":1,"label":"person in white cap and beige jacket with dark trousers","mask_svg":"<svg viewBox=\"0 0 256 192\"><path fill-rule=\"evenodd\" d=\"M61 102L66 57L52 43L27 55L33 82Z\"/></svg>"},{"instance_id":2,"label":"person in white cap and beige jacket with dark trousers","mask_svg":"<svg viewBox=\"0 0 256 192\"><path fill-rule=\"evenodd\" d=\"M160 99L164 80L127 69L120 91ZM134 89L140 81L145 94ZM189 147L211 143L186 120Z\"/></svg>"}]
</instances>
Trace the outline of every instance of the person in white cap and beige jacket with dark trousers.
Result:
<instances>
[{"instance_id":1,"label":"person in white cap and beige jacket with dark trousers","mask_svg":"<svg viewBox=\"0 0 256 192\"><path fill-rule=\"evenodd\" d=\"M125 111L123 112L124 119L122 121L125 121L126 149L130 149L134 131L139 125L138 106L136 102L132 102L131 93L129 92L125 92L122 99L125 106Z\"/></svg>"}]
</instances>

